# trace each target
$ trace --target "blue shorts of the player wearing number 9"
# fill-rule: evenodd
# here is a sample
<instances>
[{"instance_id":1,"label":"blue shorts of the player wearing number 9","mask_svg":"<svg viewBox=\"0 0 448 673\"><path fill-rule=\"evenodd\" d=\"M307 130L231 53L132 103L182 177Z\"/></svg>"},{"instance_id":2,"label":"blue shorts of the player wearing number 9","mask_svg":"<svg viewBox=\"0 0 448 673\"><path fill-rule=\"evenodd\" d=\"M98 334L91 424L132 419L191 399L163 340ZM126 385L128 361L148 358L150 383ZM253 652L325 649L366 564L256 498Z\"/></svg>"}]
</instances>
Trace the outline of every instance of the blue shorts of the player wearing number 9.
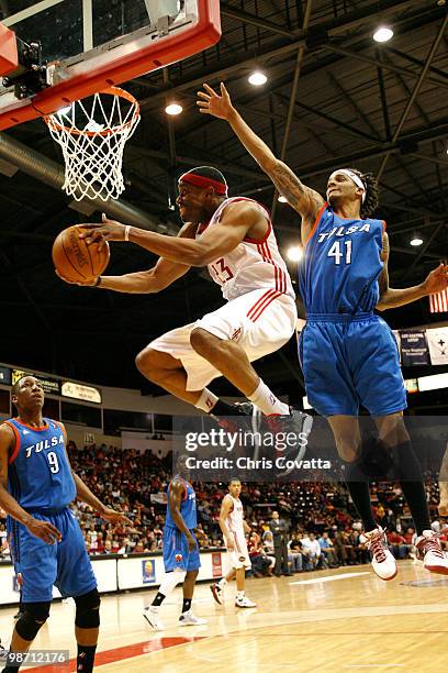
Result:
<instances>
[{"instance_id":1,"label":"blue shorts of the player wearing number 9","mask_svg":"<svg viewBox=\"0 0 448 673\"><path fill-rule=\"evenodd\" d=\"M94 589L97 580L72 511L67 507L51 516L33 512L33 517L53 523L63 539L56 544L47 544L9 517L14 569L23 580L23 603L52 600L53 585L63 597L82 596Z\"/></svg>"}]
</instances>

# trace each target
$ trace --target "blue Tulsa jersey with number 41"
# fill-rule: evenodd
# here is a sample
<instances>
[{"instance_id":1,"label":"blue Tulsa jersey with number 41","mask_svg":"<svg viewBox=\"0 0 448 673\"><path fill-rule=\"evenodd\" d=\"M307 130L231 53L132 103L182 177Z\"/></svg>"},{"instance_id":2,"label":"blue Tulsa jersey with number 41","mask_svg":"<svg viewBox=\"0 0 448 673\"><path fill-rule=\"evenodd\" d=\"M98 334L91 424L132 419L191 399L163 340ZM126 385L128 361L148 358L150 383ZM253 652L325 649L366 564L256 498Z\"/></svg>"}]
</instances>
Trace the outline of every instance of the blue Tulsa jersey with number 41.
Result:
<instances>
[{"instance_id":1,"label":"blue Tulsa jersey with number 41","mask_svg":"<svg viewBox=\"0 0 448 673\"><path fill-rule=\"evenodd\" d=\"M377 306L385 223L340 218L324 203L299 268L306 313L365 313Z\"/></svg>"}]
</instances>

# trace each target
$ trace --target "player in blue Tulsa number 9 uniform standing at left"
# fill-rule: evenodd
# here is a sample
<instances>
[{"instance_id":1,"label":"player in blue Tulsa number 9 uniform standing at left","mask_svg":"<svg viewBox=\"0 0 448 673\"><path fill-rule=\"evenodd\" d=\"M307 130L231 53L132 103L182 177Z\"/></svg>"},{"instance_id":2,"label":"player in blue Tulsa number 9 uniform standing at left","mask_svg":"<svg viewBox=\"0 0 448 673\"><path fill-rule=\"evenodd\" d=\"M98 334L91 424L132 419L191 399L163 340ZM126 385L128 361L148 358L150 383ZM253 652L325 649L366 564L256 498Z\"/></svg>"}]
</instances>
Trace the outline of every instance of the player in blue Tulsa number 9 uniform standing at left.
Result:
<instances>
[{"instance_id":1,"label":"player in blue Tulsa number 9 uniform standing at left","mask_svg":"<svg viewBox=\"0 0 448 673\"><path fill-rule=\"evenodd\" d=\"M18 619L11 652L27 651L49 614L53 585L76 603L77 671L93 670L100 626L100 595L81 529L69 509L78 497L116 523L131 521L105 507L71 471L61 423L43 418L44 390L34 376L11 391L18 417L0 426L0 505L14 569L22 577L24 613ZM7 665L3 673L18 666Z\"/></svg>"}]
</instances>

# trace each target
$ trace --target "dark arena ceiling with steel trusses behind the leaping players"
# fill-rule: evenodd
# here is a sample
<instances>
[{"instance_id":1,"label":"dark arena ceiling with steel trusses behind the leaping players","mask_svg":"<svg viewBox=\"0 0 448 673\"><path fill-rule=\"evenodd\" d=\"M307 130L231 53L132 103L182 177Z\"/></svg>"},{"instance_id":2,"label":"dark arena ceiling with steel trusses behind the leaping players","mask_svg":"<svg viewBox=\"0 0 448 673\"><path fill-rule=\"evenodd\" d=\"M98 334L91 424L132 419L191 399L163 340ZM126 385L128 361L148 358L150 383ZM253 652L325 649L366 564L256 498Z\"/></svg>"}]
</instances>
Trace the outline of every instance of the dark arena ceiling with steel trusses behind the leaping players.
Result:
<instances>
[{"instance_id":1,"label":"dark arena ceiling with steel trusses behind the leaping players","mask_svg":"<svg viewBox=\"0 0 448 673\"><path fill-rule=\"evenodd\" d=\"M126 85L143 118L125 152L125 200L153 221L177 228L169 207L177 176L211 164L225 173L231 195L273 208L283 251L298 241L298 216L273 199L271 184L227 124L197 111L201 84L223 80L246 121L310 186L324 192L328 173L346 165L379 175L378 217L388 221L391 284L419 283L448 256L446 2L232 0L221 10L216 46ZM380 23L393 27L394 37L379 45L372 33ZM247 82L255 67L268 76L262 87ZM164 107L175 98L183 113L169 119ZM61 164L42 121L7 135ZM217 287L198 271L153 296L65 285L54 274L52 242L86 216L60 190L9 164L0 163L0 360L159 393L144 386L134 355L154 336L216 308ZM90 217L98 218L98 212ZM410 246L414 230L424 238L417 249ZM134 245L114 244L109 273L148 268L154 261ZM291 272L295 277L294 264ZM424 300L387 318L392 327L432 321ZM303 395L293 343L257 368L276 390ZM217 389L232 391L225 384Z\"/></svg>"}]
</instances>

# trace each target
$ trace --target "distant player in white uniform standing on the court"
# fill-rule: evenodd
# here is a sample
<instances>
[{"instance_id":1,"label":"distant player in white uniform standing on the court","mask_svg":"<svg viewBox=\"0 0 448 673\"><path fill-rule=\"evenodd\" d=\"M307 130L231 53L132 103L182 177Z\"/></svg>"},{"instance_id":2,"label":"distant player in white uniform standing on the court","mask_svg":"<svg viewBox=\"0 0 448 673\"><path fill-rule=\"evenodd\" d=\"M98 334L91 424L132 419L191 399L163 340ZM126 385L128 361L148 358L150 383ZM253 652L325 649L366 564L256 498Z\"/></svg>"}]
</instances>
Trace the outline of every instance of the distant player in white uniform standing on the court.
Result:
<instances>
[{"instance_id":1,"label":"distant player in white uniform standing on the court","mask_svg":"<svg viewBox=\"0 0 448 673\"><path fill-rule=\"evenodd\" d=\"M223 591L227 582L236 578L235 606L240 608L257 607L244 593L245 573L251 567L249 553L246 544L246 533L250 532L250 527L244 520L243 503L239 499L242 483L239 479L232 479L228 485L228 493L224 496L221 504L220 528L224 536L227 549L231 570L220 582L211 585L213 598L222 605Z\"/></svg>"}]
</instances>

